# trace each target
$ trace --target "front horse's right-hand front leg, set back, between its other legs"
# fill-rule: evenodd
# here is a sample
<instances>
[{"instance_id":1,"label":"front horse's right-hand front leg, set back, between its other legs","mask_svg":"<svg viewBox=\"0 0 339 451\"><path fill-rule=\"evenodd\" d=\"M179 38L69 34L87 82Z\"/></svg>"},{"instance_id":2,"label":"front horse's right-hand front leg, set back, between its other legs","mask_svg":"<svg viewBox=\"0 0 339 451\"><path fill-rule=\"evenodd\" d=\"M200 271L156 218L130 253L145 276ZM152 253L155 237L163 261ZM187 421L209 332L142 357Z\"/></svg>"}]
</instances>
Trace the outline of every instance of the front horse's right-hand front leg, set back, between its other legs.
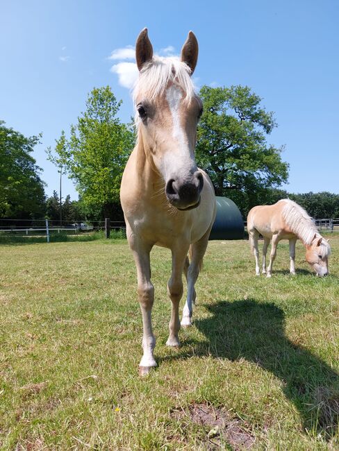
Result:
<instances>
[{"instance_id":1,"label":"front horse's right-hand front leg, set back, between its other legs","mask_svg":"<svg viewBox=\"0 0 339 451\"><path fill-rule=\"evenodd\" d=\"M179 303L183 296L183 271L187 259L188 246L172 250L172 275L167 284L167 291L172 302L172 313L169 321L169 337L167 346L180 346L179 341Z\"/></svg>"}]
</instances>

